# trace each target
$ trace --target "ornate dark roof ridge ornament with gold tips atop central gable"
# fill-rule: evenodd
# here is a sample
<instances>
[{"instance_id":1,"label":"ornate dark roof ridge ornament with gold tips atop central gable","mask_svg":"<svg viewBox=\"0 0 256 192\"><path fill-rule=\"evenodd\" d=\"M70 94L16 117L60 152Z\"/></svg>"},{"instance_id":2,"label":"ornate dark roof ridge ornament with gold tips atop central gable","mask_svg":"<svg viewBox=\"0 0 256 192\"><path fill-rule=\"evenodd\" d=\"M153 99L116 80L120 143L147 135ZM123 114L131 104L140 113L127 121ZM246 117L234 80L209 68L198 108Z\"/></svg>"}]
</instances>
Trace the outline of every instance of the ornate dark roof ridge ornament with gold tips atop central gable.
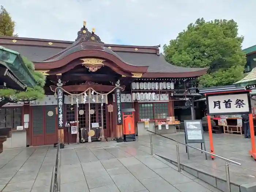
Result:
<instances>
[{"instance_id":1,"label":"ornate dark roof ridge ornament with gold tips atop central gable","mask_svg":"<svg viewBox=\"0 0 256 192\"><path fill-rule=\"evenodd\" d=\"M83 27L78 31L77 38L75 41L80 40L80 42L98 42L104 44L104 42L101 41L98 35L95 34L95 28L92 29L92 32L90 32L86 28L86 21L83 21Z\"/></svg>"}]
</instances>

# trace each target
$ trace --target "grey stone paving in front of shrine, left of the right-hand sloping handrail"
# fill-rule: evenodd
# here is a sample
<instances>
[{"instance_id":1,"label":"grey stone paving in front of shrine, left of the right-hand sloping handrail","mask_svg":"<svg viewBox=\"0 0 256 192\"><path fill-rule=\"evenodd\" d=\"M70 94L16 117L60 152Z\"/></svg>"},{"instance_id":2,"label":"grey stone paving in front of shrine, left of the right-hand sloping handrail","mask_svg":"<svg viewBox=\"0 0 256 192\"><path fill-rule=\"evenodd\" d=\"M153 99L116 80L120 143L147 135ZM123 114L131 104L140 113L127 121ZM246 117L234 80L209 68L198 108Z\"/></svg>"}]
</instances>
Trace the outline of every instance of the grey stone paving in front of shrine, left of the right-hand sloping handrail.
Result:
<instances>
[{"instance_id":1,"label":"grey stone paving in front of shrine, left of the right-hand sloping handrail","mask_svg":"<svg viewBox=\"0 0 256 192\"><path fill-rule=\"evenodd\" d=\"M151 155L147 137L136 142L92 142L61 150L61 192L219 192ZM49 192L56 148L5 150L0 191Z\"/></svg>"}]
</instances>

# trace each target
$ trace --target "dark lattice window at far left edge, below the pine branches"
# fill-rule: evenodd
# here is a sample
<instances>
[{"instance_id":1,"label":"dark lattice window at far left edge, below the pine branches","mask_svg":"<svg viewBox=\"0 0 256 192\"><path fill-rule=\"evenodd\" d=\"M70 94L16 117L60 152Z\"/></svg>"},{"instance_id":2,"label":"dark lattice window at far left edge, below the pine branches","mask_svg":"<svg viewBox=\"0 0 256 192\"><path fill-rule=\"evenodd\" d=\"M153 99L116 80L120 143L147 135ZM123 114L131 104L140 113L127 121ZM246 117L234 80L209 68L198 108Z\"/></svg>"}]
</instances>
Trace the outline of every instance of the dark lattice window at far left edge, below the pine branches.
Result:
<instances>
[{"instance_id":1,"label":"dark lattice window at far left edge, below the pine branches","mask_svg":"<svg viewBox=\"0 0 256 192\"><path fill-rule=\"evenodd\" d=\"M12 127L22 125L21 108L1 108L0 109L0 127Z\"/></svg>"}]
</instances>

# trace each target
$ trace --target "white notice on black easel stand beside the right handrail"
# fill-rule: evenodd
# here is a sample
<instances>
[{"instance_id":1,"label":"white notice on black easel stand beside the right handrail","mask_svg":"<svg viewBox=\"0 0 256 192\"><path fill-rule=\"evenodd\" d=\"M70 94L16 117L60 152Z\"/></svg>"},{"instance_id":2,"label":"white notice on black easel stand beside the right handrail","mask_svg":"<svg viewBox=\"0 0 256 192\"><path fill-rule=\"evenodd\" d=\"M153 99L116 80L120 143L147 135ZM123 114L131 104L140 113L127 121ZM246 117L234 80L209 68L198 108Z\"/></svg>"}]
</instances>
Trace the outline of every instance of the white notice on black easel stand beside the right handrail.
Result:
<instances>
[{"instance_id":1,"label":"white notice on black easel stand beside the right handrail","mask_svg":"<svg viewBox=\"0 0 256 192\"><path fill-rule=\"evenodd\" d=\"M202 131L200 121L191 121L187 123L188 140L202 140Z\"/></svg>"}]
</instances>

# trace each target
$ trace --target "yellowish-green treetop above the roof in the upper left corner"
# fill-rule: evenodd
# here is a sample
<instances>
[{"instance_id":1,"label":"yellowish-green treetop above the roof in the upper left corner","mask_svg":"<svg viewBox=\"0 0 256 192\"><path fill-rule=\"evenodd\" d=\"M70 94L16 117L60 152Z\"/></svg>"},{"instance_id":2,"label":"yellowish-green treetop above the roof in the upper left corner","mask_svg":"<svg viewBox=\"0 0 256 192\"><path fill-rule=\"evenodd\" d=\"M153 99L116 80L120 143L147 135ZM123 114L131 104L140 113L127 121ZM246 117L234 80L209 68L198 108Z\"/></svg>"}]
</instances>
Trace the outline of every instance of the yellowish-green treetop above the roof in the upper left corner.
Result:
<instances>
[{"instance_id":1,"label":"yellowish-green treetop above the roof in the upper left corner","mask_svg":"<svg viewBox=\"0 0 256 192\"><path fill-rule=\"evenodd\" d=\"M14 36L17 37L17 34L14 34L15 22L12 20L10 14L6 11L3 5L0 9L0 35L5 36Z\"/></svg>"}]
</instances>

